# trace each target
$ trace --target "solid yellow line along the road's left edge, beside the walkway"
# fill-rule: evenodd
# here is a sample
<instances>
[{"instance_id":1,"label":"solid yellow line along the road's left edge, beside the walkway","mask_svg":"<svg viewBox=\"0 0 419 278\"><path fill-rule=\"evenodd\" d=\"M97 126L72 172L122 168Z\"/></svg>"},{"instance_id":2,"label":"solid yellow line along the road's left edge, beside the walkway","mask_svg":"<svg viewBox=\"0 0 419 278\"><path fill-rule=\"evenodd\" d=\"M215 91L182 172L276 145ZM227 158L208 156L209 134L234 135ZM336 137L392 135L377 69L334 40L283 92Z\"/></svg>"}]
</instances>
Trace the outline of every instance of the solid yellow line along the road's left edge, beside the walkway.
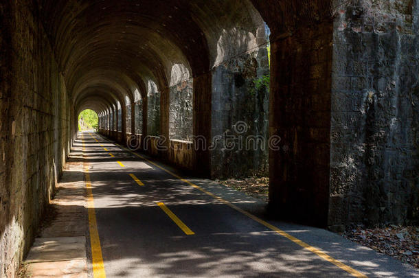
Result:
<instances>
[{"instance_id":1,"label":"solid yellow line along the road's left edge, beside the walkway","mask_svg":"<svg viewBox=\"0 0 419 278\"><path fill-rule=\"evenodd\" d=\"M82 146L84 152L84 140L82 139ZM98 224L96 222L95 204L93 202L93 192L91 190L91 181L89 174L89 167L84 163L84 177L87 189L87 210L89 213L89 233L91 244L91 257L93 266L94 278L106 278L104 270L102 248L100 247Z\"/></svg>"}]
</instances>

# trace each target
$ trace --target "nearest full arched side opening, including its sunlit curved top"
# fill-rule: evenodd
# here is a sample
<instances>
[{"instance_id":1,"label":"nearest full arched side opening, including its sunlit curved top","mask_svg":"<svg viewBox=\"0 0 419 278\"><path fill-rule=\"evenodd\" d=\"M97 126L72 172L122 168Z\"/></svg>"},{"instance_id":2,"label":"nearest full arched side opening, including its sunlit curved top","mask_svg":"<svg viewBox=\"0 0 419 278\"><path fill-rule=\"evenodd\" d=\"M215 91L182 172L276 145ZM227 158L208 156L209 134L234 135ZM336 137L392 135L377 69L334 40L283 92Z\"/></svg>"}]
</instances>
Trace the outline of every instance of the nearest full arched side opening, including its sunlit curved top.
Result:
<instances>
[{"instance_id":1,"label":"nearest full arched side opening, including its sunlit curved top","mask_svg":"<svg viewBox=\"0 0 419 278\"><path fill-rule=\"evenodd\" d=\"M214 178L269 175L270 33L259 20L253 33L234 28L218 39L212 91Z\"/></svg>"}]
</instances>

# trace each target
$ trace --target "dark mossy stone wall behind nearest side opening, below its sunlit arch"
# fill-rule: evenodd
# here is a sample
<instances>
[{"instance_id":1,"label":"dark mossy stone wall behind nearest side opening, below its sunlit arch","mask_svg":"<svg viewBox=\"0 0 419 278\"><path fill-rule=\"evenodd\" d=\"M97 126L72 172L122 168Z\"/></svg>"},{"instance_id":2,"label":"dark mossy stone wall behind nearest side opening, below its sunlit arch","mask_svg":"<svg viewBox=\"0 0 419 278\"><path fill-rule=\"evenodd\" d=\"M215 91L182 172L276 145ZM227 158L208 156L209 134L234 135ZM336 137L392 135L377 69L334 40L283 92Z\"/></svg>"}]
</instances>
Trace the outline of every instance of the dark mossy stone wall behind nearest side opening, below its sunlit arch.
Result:
<instances>
[{"instance_id":1,"label":"dark mossy stone wall behind nearest side opening, below its sunlit arch","mask_svg":"<svg viewBox=\"0 0 419 278\"><path fill-rule=\"evenodd\" d=\"M264 77L269 78L266 46L213 69L213 177L267 174L269 82L262 85ZM253 146L258 137L264 143Z\"/></svg>"}]
</instances>

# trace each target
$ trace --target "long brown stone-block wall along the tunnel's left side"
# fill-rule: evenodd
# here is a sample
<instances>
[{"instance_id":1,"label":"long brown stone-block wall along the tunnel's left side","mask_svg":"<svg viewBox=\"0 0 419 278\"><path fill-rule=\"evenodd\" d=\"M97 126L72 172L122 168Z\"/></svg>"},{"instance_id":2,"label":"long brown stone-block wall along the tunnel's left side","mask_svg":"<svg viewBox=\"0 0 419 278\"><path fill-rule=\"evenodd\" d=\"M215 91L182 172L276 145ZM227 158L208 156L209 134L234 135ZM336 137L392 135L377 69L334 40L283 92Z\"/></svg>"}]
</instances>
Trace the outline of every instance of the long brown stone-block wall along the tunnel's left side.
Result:
<instances>
[{"instance_id":1,"label":"long brown stone-block wall along the tunnel's left side","mask_svg":"<svg viewBox=\"0 0 419 278\"><path fill-rule=\"evenodd\" d=\"M0 277L14 277L69 148L69 107L32 1L0 3Z\"/></svg>"}]
</instances>

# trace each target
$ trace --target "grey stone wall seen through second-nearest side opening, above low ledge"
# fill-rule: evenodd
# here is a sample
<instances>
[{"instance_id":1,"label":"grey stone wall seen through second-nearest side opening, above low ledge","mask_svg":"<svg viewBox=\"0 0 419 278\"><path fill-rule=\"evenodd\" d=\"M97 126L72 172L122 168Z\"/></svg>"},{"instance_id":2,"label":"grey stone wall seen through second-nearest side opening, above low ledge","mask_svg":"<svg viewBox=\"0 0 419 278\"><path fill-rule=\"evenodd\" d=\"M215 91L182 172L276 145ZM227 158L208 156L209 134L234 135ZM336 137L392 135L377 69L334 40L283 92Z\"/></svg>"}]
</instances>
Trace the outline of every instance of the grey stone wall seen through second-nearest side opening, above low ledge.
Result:
<instances>
[{"instance_id":1,"label":"grey stone wall seen through second-nearest side opening, above low ledge","mask_svg":"<svg viewBox=\"0 0 419 278\"><path fill-rule=\"evenodd\" d=\"M192 78L170 87L169 137L188 140L193 135Z\"/></svg>"}]
</instances>

